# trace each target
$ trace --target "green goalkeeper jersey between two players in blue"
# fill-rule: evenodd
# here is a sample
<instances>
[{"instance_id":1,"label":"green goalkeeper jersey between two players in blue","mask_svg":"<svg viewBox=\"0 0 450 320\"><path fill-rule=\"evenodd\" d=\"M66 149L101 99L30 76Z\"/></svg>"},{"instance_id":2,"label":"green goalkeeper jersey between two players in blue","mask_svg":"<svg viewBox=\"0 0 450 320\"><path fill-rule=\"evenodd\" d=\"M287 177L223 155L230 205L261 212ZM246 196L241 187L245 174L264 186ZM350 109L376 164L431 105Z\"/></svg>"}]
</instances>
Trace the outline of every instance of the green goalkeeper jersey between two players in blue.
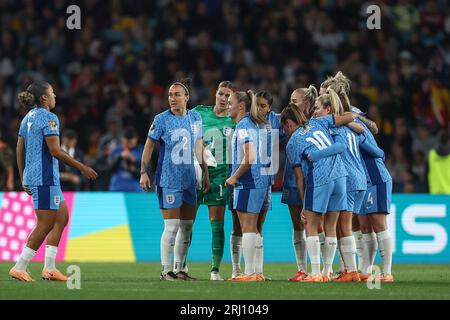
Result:
<instances>
[{"instance_id":1,"label":"green goalkeeper jersey between two players in blue","mask_svg":"<svg viewBox=\"0 0 450 320\"><path fill-rule=\"evenodd\" d=\"M230 171L231 138L235 127L234 121L228 116L218 117L212 106L196 106L194 111L200 113L203 123L203 143L216 159L217 167L208 167L210 178L214 176L227 176Z\"/></svg>"}]
</instances>

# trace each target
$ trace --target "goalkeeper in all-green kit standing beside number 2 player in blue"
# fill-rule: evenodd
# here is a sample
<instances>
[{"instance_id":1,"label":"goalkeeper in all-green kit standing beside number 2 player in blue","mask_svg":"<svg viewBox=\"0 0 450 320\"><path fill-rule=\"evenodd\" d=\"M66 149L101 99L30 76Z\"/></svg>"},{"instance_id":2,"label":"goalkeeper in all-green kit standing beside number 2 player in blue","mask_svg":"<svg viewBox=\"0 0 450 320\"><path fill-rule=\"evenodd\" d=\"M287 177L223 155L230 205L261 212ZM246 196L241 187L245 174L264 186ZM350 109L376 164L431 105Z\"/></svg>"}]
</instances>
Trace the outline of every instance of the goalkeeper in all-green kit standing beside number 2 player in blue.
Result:
<instances>
[{"instance_id":1,"label":"goalkeeper in all-green kit standing beside number 2 player in blue","mask_svg":"<svg viewBox=\"0 0 450 320\"><path fill-rule=\"evenodd\" d=\"M200 113L203 123L203 142L208 164L211 187L208 193L198 190L197 204L206 204L212 231L212 268L211 280L223 280L219 274L220 262L225 244L224 216L227 204L225 180L230 166L227 161L227 142L231 142L235 123L228 116L228 98L235 91L230 81L222 81L216 91L216 104L200 105L193 110ZM198 167L197 167L198 168ZM201 175L201 172L198 173ZM198 181L201 181L199 177Z\"/></svg>"}]
</instances>

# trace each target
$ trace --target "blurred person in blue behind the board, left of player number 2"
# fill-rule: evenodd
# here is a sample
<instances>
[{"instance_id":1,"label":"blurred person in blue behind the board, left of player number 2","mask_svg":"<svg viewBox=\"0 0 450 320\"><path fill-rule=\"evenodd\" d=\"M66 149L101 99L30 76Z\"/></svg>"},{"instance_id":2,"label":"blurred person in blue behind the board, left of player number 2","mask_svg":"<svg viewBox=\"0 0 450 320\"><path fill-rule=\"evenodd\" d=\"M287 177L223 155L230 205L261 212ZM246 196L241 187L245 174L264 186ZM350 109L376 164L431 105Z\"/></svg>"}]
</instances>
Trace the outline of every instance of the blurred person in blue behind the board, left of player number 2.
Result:
<instances>
[{"instance_id":1,"label":"blurred person in blue behind the board, left of player number 2","mask_svg":"<svg viewBox=\"0 0 450 320\"><path fill-rule=\"evenodd\" d=\"M139 179L143 150L144 146L138 144L136 130L132 127L126 128L122 143L111 153L110 191L142 192Z\"/></svg>"}]
</instances>

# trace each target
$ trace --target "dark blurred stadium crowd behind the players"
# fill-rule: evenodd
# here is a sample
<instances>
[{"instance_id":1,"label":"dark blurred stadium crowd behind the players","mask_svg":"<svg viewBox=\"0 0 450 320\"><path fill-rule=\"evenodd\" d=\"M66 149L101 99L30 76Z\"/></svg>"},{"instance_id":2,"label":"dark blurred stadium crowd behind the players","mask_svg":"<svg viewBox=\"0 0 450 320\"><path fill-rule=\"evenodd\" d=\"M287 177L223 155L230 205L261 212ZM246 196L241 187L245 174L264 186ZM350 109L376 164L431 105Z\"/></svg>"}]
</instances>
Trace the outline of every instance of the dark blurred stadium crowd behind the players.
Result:
<instances>
[{"instance_id":1,"label":"dark blurred stadium crowd behind the players","mask_svg":"<svg viewBox=\"0 0 450 320\"><path fill-rule=\"evenodd\" d=\"M194 80L190 106L230 80L269 91L280 112L295 88L342 70L378 125L393 191L427 192L430 150L450 153L450 5L375 2L380 30L367 28L369 3L352 0L85 0L81 30L68 30L69 1L0 0L1 189L21 185L7 173L27 112L17 93L34 80L57 92L63 149L100 173L88 182L61 168L63 190L128 190L120 175L136 177L133 154L174 79Z\"/></svg>"}]
</instances>

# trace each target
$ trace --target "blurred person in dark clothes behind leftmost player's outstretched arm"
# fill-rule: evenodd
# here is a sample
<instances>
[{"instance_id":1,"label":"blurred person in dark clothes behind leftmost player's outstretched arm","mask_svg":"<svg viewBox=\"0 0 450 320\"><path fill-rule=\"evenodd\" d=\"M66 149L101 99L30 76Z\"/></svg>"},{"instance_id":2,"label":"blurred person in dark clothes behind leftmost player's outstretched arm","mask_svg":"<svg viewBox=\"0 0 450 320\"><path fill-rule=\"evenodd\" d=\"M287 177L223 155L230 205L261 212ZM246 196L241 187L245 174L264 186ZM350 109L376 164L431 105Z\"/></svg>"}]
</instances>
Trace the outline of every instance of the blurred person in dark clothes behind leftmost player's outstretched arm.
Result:
<instances>
[{"instance_id":1,"label":"blurred person in dark clothes behind leftmost player's outstretched arm","mask_svg":"<svg viewBox=\"0 0 450 320\"><path fill-rule=\"evenodd\" d=\"M72 158L77 161L84 161L84 152L77 147L78 143L78 135L72 129L66 129L63 131L61 137L61 149L67 152ZM61 189L63 191L80 191L83 190L86 181L81 174L75 168L68 166L62 161L59 162L60 167L60 180L61 180Z\"/></svg>"}]
</instances>

